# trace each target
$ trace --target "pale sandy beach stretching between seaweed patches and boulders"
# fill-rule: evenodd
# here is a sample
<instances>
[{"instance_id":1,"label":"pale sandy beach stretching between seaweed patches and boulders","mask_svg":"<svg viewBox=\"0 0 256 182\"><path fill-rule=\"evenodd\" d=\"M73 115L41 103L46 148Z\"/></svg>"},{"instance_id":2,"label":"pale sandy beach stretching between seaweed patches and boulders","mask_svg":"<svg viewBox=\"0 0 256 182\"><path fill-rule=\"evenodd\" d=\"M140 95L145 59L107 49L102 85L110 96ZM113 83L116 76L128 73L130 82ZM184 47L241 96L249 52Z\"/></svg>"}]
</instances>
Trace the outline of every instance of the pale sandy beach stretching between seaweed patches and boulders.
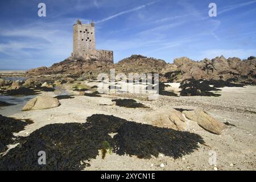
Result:
<instances>
[{"instance_id":1,"label":"pale sandy beach stretching between seaweed patches and boulders","mask_svg":"<svg viewBox=\"0 0 256 182\"><path fill-rule=\"evenodd\" d=\"M85 81L85 84L92 86L97 83ZM175 89L175 85L173 86ZM227 126L221 135L215 135L187 119L185 131L199 134L205 141L205 144L199 144L199 149L191 154L183 155L179 159L164 154L160 154L158 158L152 156L150 159L139 159L137 156L112 153L106 154L105 159L102 159L99 151L97 158L90 160L90 166L85 170L255 170L256 86L222 88L219 92L220 97L159 96L155 101L129 96L148 108L126 108L113 104L114 98L123 98L125 94L122 94L122 97L118 94L102 94L102 97L73 96L71 99L60 100L61 105L53 109L21 111L23 104L9 106L9 109L17 109L16 113L8 115L7 109L3 109L0 110L0 114L19 119L32 119L34 123L14 134L27 137L33 131L53 123L84 123L86 118L93 114L114 115L127 121L151 125L146 116L159 109L203 109L218 121L232 125ZM57 93L43 92L41 95L54 97ZM209 164L211 151L217 155L215 166ZM164 167L160 167L161 164L164 164Z\"/></svg>"}]
</instances>

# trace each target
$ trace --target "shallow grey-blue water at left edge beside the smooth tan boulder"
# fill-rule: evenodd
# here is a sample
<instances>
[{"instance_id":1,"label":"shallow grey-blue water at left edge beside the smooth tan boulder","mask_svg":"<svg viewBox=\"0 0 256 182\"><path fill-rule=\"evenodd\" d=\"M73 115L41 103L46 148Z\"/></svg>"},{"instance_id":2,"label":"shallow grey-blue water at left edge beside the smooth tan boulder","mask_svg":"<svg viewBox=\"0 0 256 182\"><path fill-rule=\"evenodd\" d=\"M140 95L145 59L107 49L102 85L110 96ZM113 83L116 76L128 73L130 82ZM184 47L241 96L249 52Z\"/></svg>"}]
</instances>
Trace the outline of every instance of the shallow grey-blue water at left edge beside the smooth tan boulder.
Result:
<instances>
[{"instance_id":1,"label":"shallow grey-blue water at left edge beside the smooth tan boulder","mask_svg":"<svg viewBox=\"0 0 256 182\"><path fill-rule=\"evenodd\" d=\"M14 104L11 106L0 107L0 114L9 117L15 113L21 112L22 107L26 105L27 101L31 100L34 96L3 96L0 95L0 101L9 102Z\"/></svg>"}]
</instances>

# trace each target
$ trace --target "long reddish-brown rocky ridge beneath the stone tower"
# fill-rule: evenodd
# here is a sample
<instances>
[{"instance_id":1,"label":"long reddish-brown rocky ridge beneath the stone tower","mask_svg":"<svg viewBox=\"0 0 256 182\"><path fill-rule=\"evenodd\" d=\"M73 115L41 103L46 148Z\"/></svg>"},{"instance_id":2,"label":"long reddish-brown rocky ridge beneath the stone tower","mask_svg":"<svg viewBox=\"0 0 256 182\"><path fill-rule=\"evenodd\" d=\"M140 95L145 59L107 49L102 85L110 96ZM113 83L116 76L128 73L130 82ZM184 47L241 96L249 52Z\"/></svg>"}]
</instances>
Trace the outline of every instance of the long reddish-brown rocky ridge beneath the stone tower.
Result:
<instances>
[{"instance_id":1,"label":"long reddish-brown rocky ridge beneath the stone tower","mask_svg":"<svg viewBox=\"0 0 256 182\"><path fill-rule=\"evenodd\" d=\"M180 57L173 64L164 60L132 55L116 64L96 60L75 60L72 57L53 64L51 67L31 69L27 76L68 75L71 77L96 78L99 73L109 73L114 68L116 73L160 73L160 81L183 81L189 78L196 80L229 80L256 84L256 58L241 60L237 57L226 59L224 56L212 60L193 61Z\"/></svg>"}]
</instances>

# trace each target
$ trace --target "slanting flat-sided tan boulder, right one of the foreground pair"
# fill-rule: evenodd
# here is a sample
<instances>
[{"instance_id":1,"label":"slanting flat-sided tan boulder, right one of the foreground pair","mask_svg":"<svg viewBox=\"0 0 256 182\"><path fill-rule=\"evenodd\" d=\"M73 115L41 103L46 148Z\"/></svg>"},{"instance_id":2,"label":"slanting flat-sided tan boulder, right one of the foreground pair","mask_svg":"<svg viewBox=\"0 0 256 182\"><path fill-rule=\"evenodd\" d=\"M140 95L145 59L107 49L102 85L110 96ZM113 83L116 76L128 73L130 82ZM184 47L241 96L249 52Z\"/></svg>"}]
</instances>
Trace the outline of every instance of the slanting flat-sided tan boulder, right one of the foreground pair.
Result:
<instances>
[{"instance_id":1,"label":"slanting flat-sided tan boulder, right one of the foreground pair","mask_svg":"<svg viewBox=\"0 0 256 182\"><path fill-rule=\"evenodd\" d=\"M199 126L210 133L220 135L226 128L225 125L206 114L203 110L197 109L192 111L183 111L185 117L192 121L196 121Z\"/></svg>"}]
</instances>

